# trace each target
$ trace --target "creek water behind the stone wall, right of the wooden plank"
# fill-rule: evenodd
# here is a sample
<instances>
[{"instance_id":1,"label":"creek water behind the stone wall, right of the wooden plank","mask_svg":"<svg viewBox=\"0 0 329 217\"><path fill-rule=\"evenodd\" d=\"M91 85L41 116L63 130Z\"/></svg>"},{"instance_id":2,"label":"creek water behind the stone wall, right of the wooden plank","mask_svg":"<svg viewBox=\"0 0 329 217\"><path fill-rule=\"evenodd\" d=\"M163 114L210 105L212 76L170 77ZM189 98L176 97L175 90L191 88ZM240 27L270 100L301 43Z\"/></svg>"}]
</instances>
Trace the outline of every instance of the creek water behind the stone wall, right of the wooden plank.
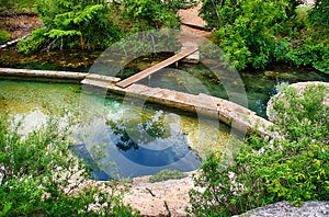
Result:
<instances>
[{"instance_id":1,"label":"creek water behind the stone wall, right of the wooden plank","mask_svg":"<svg viewBox=\"0 0 329 217\"><path fill-rule=\"evenodd\" d=\"M174 66L171 67L171 69L168 68L154 73L150 79L144 79L140 83L154 88L171 89L193 94L207 93L228 99L220 80L204 65L180 64L178 69ZM239 75L245 84L248 107L262 117L266 117L268 101L277 92L280 83L329 82L329 75L311 70L276 68L263 71L242 71Z\"/></svg>"}]
</instances>

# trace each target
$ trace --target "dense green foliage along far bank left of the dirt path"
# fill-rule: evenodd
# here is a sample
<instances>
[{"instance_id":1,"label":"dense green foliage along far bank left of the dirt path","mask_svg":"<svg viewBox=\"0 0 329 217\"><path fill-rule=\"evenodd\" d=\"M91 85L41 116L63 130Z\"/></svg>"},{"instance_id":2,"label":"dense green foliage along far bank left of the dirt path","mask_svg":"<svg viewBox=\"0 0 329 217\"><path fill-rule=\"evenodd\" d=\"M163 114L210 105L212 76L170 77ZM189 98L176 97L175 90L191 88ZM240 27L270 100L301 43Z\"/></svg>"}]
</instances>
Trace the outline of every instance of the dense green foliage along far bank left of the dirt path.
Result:
<instances>
[{"instance_id":1,"label":"dense green foliage along far bank left of the dirt path","mask_svg":"<svg viewBox=\"0 0 329 217\"><path fill-rule=\"evenodd\" d=\"M36 0L44 24L23 41L19 49L48 52L54 48L104 49L129 33L175 27L174 1Z\"/></svg>"}]
</instances>

